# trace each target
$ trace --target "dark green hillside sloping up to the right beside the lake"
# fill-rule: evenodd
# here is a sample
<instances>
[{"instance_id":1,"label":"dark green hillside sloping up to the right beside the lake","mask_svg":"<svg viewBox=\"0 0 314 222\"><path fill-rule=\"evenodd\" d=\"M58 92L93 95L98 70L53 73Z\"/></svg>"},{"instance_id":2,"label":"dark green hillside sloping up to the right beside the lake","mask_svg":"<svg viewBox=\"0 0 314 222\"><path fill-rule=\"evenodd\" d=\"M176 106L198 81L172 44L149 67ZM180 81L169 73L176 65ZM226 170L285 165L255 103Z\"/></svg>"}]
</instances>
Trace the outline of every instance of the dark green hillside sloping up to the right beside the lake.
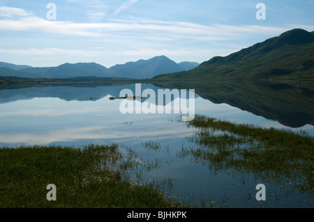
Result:
<instances>
[{"instance_id":1,"label":"dark green hillside sloping up to the right beside the lake","mask_svg":"<svg viewBox=\"0 0 314 222\"><path fill-rule=\"evenodd\" d=\"M156 80L308 79L314 75L314 32L292 29L229 56L216 56Z\"/></svg>"}]
</instances>

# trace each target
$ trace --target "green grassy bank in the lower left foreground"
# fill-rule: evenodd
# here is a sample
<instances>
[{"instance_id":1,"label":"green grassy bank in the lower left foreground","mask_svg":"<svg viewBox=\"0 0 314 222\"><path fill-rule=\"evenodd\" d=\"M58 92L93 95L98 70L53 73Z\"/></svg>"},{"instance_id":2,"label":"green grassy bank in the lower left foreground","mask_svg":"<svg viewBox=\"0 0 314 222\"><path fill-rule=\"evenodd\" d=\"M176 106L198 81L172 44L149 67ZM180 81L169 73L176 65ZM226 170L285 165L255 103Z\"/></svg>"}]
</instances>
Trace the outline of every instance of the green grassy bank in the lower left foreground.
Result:
<instances>
[{"instance_id":1,"label":"green grassy bank in the lower left foreground","mask_svg":"<svg viewBox=\"0 0 314 222\"><path fill-rule=\"evenodd\" d=\"M180 206L152 185L131 183L125 172L135 162L117 145L0 148L0 159L0 207ZM46 198L48 184L56 201Z\"/></svg>"}]
</instances>

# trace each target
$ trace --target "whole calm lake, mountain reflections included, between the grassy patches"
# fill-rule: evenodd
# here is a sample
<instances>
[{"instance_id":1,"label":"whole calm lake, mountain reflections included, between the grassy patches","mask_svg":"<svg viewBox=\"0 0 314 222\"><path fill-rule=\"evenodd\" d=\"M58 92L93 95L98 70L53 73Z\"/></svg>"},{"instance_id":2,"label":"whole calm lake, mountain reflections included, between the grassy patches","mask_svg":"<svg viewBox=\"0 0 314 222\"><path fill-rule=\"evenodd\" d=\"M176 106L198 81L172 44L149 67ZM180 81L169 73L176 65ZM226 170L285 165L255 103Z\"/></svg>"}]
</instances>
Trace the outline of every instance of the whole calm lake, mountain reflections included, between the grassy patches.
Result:
<instances>
[{"instance_id":1,"label":"whole calm lake, mountain reflections included, between the grassy patches","mask_svg":"<svg viewBox=\"0 0 314 222\"><path fill-rule=\"evenodd\" d=\"M218 207L314 207L313 192L299 192L289 185L266 182L253 173L232 168L213 171L208 164L183 155L182 150L197 147L189 139L195 129L181 121L186 113L174 112L165 100L157 104L157 98L156 104L149 107L165 108L163 112L136 111L136 107L148 107L148 101L152 101L149 99L154 99L151 94L127 101L128 108L134 105L134 113L121 110L121 106L126 108L126 100L110 100L120 97L125 89L139 96L136 86L141 86L140 93L148 90L156 96L158 89L176 88L179 97L171 101L189 105L193 102L195 114L267 128L301 130L314 136L311 82L50 84L0 90L0 146L56 144L79 148L90 143L117 143L122 151L131 148L141 157L140 161L152 166L149 171L142 171L140 179L132 175L134 182L163 182L168 195L178 200L198 204L207 201ZM186 100L182 98L182 89L187 90ZM195 94L190 89L195 89ZM257 184L265 185L266 200L255 198Z\"/></svg>"}]
</instances>

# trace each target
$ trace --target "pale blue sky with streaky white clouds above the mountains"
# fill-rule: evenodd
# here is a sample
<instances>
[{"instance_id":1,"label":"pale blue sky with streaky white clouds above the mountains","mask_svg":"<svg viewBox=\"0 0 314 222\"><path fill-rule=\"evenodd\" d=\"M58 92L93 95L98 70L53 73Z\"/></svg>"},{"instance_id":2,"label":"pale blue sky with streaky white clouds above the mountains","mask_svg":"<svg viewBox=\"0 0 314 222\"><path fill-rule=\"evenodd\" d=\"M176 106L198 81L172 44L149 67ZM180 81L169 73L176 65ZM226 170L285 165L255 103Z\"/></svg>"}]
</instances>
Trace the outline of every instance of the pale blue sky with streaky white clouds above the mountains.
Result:
<instances>
[{"instance_id":1,"label":"pale blue sky with streaky white clouds above the mountains","mask_svg":"<svg viewBox=\"0 0 314 222\"><path fill-rule=\"evenodd\" d=\"M314 31L313 10L314 0L0 0L0 61L202 63L290 29Z\"/></svg>"}]
</instances>

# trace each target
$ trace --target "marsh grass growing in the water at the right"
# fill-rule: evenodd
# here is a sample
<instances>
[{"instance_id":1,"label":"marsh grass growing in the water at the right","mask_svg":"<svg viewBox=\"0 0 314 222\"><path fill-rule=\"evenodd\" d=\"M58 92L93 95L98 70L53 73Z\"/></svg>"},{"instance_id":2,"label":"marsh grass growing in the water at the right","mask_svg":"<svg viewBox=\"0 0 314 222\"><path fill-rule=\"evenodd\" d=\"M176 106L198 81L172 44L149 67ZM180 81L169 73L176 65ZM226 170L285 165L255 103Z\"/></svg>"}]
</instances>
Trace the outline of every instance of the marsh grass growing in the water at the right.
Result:
<instances>
[{"instance_id":1,"label":"marsh grass growing in the water at the right","mask_svg":"<svg viewBox=\"0 0 314 222\"><path fill-rule=\"evenodd\" d=\"M281 184L287 190L314 191L314 138L304 132L234 124L206 116L188 122L195 133L193 148L179 156L191 156L211 171L253 173L257 178Z\"/></svg>"}]
</instances>

